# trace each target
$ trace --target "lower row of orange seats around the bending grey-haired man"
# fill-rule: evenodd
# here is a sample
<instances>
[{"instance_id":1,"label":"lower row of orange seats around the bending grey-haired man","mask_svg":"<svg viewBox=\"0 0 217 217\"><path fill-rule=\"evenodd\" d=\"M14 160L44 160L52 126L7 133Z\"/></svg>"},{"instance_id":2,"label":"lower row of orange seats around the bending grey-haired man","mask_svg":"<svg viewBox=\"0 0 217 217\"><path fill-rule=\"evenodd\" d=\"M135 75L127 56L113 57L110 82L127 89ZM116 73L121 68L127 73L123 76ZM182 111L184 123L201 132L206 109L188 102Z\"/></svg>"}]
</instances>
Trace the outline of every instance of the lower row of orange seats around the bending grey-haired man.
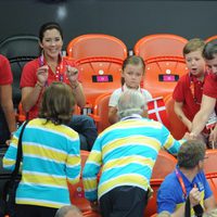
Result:
<instances>
[{"instance_id":1,"label":"lower row of orange seats around the bending grey-haired man","mask_svg":"<svg viewBox=\"0 0 217 217\"><path fill-rule=\"evenodd\" d=\"M85 163L88 158L89 152L81 151L80 154L81 154L81 168L84 168ZM217 150L206 150L206 156L207 158L204 162L204 173L210 184L210 189L214 193L214 196L217 201L217 165L213 164L213 162L217 157ZM170 155L166 151L162 151L162 150L159 151L156 163L153 168L152 178L150 181L150 184L154 192L153 192L153 196L148 203L144 216L150 217L157 212L157 205L156 205L157 189L163 182L165 176L167 176L175 169L176 164L177 164L177 159L173 155ZM84 212L84 216L89 216L89 217L100 216L99 214L91 212L90 204L85 199L82 178L80 178L80 181L77 184L69 186L69 191L71 191L72 203L78 206L80 210Z\"/></svg>"}]
</instances>

